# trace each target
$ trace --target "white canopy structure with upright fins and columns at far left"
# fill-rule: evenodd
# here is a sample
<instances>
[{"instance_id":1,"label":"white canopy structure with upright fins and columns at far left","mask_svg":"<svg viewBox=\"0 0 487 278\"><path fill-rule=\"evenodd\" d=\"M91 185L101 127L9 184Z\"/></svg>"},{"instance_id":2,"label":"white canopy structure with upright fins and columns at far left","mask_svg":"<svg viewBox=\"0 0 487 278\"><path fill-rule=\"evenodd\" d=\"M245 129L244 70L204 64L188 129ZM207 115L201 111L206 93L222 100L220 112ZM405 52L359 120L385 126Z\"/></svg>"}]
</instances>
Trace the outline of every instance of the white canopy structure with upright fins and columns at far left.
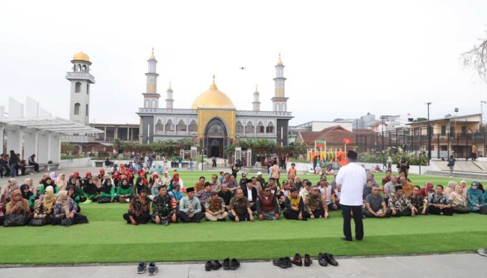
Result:
<instances>
[{"instance_id":1,"label":"white canopy structure with upright fins and columns at far left","mask_svg":"<svg viewBox=\"0 0 487 278\"><path fill-rule=\"evenodd\" d=\"M29 97L25 113L28 117L24 117L24 105L15 99L9 99L6 113L9 118L3 117L3 110L0 106L0 136L1 142L5 135L7 137L7 152L13 150L25 160L35 154L38 163L61 161L61 136L103 132L61 117L51 117Z\"/></svg>"}]
</instances>

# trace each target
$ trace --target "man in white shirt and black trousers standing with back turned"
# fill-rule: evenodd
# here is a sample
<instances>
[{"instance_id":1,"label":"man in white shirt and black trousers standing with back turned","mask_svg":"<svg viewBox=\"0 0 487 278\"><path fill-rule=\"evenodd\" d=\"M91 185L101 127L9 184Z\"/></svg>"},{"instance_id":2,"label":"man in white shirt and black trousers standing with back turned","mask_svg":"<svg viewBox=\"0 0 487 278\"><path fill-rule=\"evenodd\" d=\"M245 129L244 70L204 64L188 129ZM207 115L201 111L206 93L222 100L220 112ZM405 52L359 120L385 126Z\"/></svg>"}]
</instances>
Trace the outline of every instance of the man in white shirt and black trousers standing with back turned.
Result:
<instances>
[{"instance_id":1,"label":"man in white shirt and black trousers standing with back turned","mask_svg":"<svg viewBox=\"0 0 487 278\"><path fill-rule=\"evenodd\" d=\"M364 226L362 223L362 194L367 174L365 169L357 162L358 154L349 151L346 159L349 164L340 168L337 174L337 185L342 186L340 195L340 206L342 206L343 215L343 234L342 240L352 241L351 231L351 213L353 213L353 222L355 222L355 238L362 240L364 237Z\"/></svg>"}]
</instances>

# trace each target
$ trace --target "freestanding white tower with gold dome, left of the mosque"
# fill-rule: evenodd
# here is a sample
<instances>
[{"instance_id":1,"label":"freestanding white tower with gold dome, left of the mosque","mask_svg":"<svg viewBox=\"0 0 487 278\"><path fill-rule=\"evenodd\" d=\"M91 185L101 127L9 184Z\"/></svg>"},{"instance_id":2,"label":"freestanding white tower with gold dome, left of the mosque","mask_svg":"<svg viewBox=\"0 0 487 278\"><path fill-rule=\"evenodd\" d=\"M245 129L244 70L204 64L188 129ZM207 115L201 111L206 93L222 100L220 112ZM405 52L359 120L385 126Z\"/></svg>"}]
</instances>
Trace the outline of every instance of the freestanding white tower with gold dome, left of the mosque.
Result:
<instances>
[{"instance_id":1,"label":"freestanding white tower with gold dome, left of the mosque","mask_svg":"<svg viewBox=\"0 0 487 278\"><path fill-rule=\"evenodd\" d=\"M95 77L90 74L90 57L83 51L74 54L72 72L66 72L71 81L70 121L88 125L90 122L90 84Z\"/></svg>"}]
</instances>

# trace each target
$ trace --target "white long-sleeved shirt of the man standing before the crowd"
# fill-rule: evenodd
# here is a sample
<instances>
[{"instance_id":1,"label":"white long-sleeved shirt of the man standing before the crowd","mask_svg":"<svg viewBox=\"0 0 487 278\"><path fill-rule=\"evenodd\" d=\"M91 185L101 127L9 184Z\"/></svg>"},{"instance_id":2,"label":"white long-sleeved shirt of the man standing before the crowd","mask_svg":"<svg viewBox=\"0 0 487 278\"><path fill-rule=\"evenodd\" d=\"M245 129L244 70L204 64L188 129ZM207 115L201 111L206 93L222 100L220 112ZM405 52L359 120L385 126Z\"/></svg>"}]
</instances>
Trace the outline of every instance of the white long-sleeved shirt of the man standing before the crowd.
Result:
<instances>
[{"instance_id":1,"label":"white long-sleeved shirt of the man standing before the crowd","mask_svg":"<svg viewBox=\"0 0 487 278\"><path fill-rule=\"evenodd\" d=\"M337 184L342 185L340 204L345 206L362 206L362 194L367 174L358 163L349 163L340 168L337 174Z\"/></svg>"}]
</instances>

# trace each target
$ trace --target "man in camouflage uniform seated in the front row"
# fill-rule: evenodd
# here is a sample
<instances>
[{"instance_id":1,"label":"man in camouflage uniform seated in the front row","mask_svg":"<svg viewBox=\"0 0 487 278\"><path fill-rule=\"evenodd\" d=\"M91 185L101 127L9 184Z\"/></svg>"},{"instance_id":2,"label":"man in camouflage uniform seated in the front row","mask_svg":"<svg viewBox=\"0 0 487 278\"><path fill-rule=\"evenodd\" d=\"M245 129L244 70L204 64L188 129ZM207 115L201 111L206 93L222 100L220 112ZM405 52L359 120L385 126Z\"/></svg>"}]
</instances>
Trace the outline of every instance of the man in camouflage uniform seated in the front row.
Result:
<instances>
[{"instance_id":1,"label":"man in camouflage uniform seated in the front row","mask_svg":"<svg viewBox=\"0 0 487 278\"><path fill-rule=\"evenodd\" d=\"M167 226L169 222L175 223L177 220L175 213L175 202L168 195L166 186L161 184L157 187L159 195L152 200L152 222Z\"/></svg>"}]
</instances>

